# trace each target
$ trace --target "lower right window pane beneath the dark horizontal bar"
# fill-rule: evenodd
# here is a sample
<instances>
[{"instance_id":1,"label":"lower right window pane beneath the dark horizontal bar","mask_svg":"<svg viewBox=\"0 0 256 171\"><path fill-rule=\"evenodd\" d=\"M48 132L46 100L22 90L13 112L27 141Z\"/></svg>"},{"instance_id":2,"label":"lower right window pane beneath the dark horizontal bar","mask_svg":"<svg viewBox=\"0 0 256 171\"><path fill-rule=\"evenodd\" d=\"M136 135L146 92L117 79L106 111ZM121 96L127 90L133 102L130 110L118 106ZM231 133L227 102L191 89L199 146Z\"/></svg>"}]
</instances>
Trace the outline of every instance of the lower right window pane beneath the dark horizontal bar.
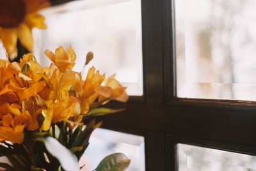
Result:
<instances>
[{"instance_id":1,"label":"lower right window pane beneath the dark horizontal bar","mask_svg":"<svg viewBox=\"0 0 256 171\"><path fill-rule=\"evenodd\" d=\"M177 145L179 171L252 171L256 156L194 145Z\"/></svg>"}]
</instances>

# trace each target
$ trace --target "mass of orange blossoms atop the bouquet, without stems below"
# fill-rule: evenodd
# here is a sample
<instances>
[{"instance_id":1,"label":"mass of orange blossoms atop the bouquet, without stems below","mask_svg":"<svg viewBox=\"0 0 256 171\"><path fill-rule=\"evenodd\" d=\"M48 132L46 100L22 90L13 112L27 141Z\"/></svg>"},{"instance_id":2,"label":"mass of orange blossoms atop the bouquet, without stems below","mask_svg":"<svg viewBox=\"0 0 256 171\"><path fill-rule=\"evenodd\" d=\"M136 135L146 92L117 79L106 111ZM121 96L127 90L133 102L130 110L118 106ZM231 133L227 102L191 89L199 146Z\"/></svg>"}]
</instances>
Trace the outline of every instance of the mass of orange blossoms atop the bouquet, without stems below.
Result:
<instances>
[{"instance_id":1,"label":"mass of orange blossoms atop the bouquet, without stems below","mask_svg":"<svg viewBox=\"0 0 256 171\"><path fill-rule=\"evenodd\" d=\"M76 54L71 47L67 52L59 47L55 54L49 50L45 54L53 62L49 68L42 68L32 54L24 55L20 63L0 60L0 141L22 143L24 132L49 131L52 124L62 121L73 128L82 124L85 114L120 111L97 110L103 103L127 101L126 87L115 75L103 86L105 75L94 67L85 80L72 71Z\"/></svg>"}]
</instances>

